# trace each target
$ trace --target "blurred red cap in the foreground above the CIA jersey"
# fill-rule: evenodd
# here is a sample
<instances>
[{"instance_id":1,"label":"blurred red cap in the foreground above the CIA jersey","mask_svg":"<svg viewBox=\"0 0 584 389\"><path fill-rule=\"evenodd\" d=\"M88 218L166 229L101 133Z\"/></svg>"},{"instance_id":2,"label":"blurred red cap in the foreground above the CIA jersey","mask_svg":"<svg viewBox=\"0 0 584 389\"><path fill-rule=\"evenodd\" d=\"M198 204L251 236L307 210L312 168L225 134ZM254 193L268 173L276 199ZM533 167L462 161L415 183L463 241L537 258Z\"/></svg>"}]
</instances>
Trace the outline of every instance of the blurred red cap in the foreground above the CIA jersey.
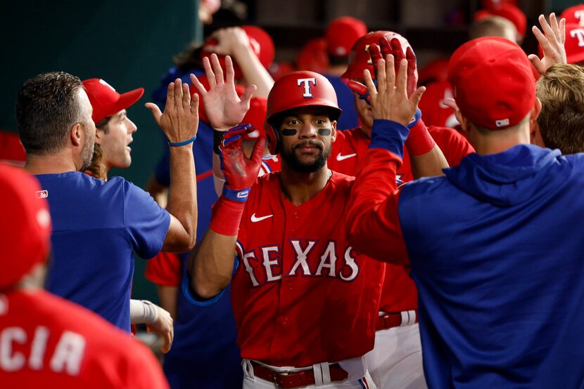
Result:
<instances>
[{"instance_id":1,"label":"blurred red cap in the foreground above the CIA jersey","mask_svg":"<svg viewBox=\"0 0 584 389\"><path fill-rule=\"evenodd\" d=\"M36 178L0 164L0 289L18 282L49 255L51 214Z\"/></svg>"}]
</instances>

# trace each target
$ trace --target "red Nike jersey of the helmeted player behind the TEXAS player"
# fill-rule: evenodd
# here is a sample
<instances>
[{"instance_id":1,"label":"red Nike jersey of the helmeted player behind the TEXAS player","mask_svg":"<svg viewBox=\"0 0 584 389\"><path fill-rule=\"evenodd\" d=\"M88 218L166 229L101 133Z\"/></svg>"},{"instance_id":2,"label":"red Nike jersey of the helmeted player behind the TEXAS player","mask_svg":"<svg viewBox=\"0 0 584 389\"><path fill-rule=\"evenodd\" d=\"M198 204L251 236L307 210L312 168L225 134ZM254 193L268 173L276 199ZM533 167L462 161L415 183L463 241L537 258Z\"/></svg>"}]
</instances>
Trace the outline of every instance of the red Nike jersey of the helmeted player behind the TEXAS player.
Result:
<instances>
[{"instance_id":1,"label":"red Nike jersey of the helmeted player behind the TEXAS player","mask_svg":"<svg viewBox=\"0 0 584 389\"><path fill-rule=\"evenodd\" d=\"M456 166L466 154L474 152L466 138L452 128L430 126L428 131L442 150L450 166ZM329 168L349 176L357 176L365 152L369 150L370 142L371 138L365 135L361 128L336 131L336 140L327 161ZM398 169L396 176L403 182L414 179L410 168L410 156L405 147L403 164ZM381 310L383 312L417 309L417 289L408 272L409 268L387 264L385 284L381 292Z\"/></svg>"}]
</instances>

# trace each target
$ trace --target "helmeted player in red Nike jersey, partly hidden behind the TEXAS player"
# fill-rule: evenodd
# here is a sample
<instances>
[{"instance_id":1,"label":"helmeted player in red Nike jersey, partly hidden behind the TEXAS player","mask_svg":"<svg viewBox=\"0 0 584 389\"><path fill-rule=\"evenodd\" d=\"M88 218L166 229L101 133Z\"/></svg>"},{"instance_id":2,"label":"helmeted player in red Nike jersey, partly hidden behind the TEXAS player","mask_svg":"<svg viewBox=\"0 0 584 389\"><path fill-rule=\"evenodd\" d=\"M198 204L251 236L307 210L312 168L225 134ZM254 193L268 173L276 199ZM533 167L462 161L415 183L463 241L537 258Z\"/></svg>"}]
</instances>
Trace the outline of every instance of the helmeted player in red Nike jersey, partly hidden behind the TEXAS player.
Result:
<instances>
[{"instance_id":1,"label":"helmeted player in red Nike jersey, partly hidden behind the TEXAS player","mask_svg":"<svg viewBox=\"0 0 584 389\"><path fill-rule=\"evenodd\" d=\"M351 51L350 64L343 77L354 81L362 81L364 70L369 70L373 75L372 56L369 47L383 41L383 48L391 50L395 56L404 57L406 50L409 62L409 79L414 79L410 84L410 94L416 85L417 72L414 53L407 40L388 31L370 32L360 38ZM379 50L374 57L379 56ZM351 83L355 86L355 83ZM356 93L357 94L357 93ZM355 98L357 112L360 114L362 125L346 131L338 131L333 144L333 152L329 157L329 167L339 173L357 176L360 171L360 162L371 143L371 131L374 124L372 110L364 98ZM412 133L429 133L433 141L442 150L448 164L455 166L466 154L473 152L473 148L466 139L452 128L433 127L427 128L419 119ZM420 138L420 137L418 137ZM423 139L423 138L422 138ZM429 141L429 139L426 139ZM426 143L420 149L419 143L413 137L408 138L404 150L404 163L398 170L398 178L403 182L414 179L410 154L419 156L424 154L433 141ZM421 143L424 145L424 143ZM438 165L438 164L437 164ZM415 178L420 176L433 176L441 171L424 170L426 166L417 165ZM381 292L381 306L375 337L375 348L366 355L367 367L373 380L379 388L424 388L424 374L421 362L421 343L419 327L417 324L417 290L414 282L407 274L408 270L399 265L388 264L386 277Z\"/></svg>"}]
</instances>

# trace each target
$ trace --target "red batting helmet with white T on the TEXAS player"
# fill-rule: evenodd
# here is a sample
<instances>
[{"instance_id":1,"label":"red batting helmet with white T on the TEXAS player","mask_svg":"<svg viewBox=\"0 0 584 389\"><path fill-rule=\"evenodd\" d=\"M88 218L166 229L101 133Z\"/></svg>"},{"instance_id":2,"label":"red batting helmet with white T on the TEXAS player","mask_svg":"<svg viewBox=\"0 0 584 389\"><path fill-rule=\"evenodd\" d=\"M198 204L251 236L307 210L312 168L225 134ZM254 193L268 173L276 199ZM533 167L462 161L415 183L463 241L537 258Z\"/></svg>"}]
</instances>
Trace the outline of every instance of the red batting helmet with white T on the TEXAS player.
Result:
<instances>
[{"instance_id":1,"label":"red batting helmet with white T on the TEXAS player","mask_svg":"<svg viewBox=\"0 0 584 389\"><path fill-rule=\"evenodd\" d=\"M269 152L279 152L279 135L273 123L274 115L298 107L318 105L329 108L331 120L338 119L343 110L338 107L336 93L330 81L315 72L293 72L281 77L267 96L267 114L264 128Z\"/></svg>"}]
</instances>

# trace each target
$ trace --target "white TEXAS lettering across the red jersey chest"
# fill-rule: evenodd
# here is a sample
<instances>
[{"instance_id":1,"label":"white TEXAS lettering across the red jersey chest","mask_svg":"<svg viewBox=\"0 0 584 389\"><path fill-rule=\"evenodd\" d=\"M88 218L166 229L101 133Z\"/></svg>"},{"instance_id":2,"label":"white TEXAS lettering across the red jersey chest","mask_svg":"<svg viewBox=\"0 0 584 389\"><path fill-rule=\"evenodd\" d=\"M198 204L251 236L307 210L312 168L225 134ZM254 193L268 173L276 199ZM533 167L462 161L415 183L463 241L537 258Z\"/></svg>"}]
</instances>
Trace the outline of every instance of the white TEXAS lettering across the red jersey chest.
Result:
<instances>
[{"instance_id":1,"label":"white TEXAS lettering across the red jersey chest","mask_svg":"<svg viewBox=\"0 0 584 389\"><path fill-rule=\"evenodd\" d=\"M360 273L358 253L351 246L341 247L334 240L319 244L319 239L288 239L285 244L288 247L273 244L245 251L237 242L243 270L253 287L279 282L282 277L324 277L353 282ZM284 251L292 253L291 261L283 263Z\"/></svg>"}]
</instances>

